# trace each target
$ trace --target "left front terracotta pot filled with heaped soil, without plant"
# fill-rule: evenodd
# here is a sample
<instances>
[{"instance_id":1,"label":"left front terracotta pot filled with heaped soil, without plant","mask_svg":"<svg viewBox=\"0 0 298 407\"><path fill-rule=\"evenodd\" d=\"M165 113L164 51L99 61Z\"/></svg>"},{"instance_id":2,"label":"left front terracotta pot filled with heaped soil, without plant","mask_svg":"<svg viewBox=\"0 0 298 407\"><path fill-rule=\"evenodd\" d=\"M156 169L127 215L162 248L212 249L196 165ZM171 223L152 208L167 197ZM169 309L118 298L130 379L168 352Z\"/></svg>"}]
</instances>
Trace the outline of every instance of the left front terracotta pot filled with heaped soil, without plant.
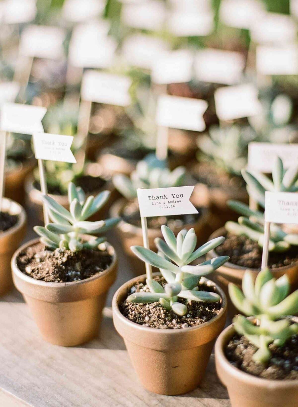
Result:
<instances>
[{"instance_id":1,"label":"left front terracotta pot filled with heaped soil, without plant","mask_svg":"<svg viewBox=\"0 0 298 407\"><path fill-rule=\"evenodd\" d=\"M34 239L18 249L11 260L13 282L23 294L44 340L54 345L77 346L96 337L107 293L115 282L117 256L102 274L73 282L45 282L26 276L17 267L17 256Z\"/></svg>"}]
</instances>

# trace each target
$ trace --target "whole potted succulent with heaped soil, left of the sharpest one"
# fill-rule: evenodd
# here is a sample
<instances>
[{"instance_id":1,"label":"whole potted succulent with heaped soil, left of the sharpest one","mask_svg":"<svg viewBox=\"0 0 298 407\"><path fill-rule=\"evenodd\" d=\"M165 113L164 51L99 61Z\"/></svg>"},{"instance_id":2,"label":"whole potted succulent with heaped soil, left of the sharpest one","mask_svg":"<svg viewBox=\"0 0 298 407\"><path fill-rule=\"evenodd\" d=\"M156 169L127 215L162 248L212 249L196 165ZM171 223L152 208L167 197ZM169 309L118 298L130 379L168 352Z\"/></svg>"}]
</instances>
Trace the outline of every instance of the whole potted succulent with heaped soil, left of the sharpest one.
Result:
<instances>
[{"instance_id":1,"label":"whole potted succulent with heaped soil, left of the sharpest one","mask_svg":"<svg viewBox=\"0 0 298 407\"><path fill-rule=\"evenodd\" d=\"M86 221L109 198L109 191L85 199L82 188L68 186L70 211L44 195L51 223L35 226L41 239L21 246L11 268L41 335L61 346L83 344L98 335L107 291L117 273L114 248L95 237L119 219Z\"/></svg>"}]
</instances>

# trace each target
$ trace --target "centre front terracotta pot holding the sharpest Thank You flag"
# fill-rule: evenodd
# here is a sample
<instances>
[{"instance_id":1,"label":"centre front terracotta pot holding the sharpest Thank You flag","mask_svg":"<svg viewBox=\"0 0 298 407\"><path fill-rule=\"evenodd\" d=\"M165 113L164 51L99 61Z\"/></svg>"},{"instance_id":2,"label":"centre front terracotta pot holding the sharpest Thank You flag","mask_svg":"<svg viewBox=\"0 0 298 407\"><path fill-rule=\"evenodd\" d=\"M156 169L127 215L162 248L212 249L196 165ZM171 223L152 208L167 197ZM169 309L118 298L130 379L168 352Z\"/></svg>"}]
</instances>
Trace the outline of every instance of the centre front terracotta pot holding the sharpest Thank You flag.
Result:
<instances>
[{"instance_id":1,"label":"centre front terracotta pot holding the sharpest Thank You flag","mask_svg":"<svg viewBox=\"0 0 298 407\"><path fill-rule=\"evenodd\" d=\"M220 313L204 324L181 329L158 329L130 321L119 310L119 304L129 289L146 276L133 278L123 284L113 298L113 321L123 337L128 354L139 379L154 393L177 395L196 388L204 376L215 338L226 321L226 297L222 298Z\"/></svg>"}]
</instances>

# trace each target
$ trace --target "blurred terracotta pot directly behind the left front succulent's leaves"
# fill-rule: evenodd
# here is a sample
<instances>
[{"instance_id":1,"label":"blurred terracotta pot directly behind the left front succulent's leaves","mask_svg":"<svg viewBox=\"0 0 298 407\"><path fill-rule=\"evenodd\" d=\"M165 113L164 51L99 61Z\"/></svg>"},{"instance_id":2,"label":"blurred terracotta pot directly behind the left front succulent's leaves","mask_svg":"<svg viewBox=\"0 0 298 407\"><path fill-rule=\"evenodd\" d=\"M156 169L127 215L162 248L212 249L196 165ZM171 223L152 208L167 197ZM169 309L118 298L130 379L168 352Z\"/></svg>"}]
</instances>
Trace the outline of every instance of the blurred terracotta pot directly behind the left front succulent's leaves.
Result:
<instances>
[{"instance_id":1,"label":"blurred terracotta pot directly behind the left front succulent's leaves","mask_svg":"<svg viewBox=\"0 0 298 407\"><path fill-rule=\"evenodd\" d=\"M26 189L26 195L27 195L27 205L33 208L37 218L41 221L44 220L44 212L42 208L42 193L39 189L36 189L33 186L34 178L28 177L25 182L25 189ZM107 203L94 215L91 216L89 220L91 221L98 221L107 218L108 213L109 213L109 208L111 204L117 199L119 196L111 182L111 179L107 180L105 184L100 188L99 190L96 190L90 194L87 194L86 196L88 197L89 195L97 195L103 190L109 190L111 192L111 195L107 201ZM64 206L67 210L69 210L69 204L68 204L68 197L67 195L53 195L53 194L48 194L50 197L52 197L56 202L58 202L60 205Z\"/></svg>"}]
</instances>

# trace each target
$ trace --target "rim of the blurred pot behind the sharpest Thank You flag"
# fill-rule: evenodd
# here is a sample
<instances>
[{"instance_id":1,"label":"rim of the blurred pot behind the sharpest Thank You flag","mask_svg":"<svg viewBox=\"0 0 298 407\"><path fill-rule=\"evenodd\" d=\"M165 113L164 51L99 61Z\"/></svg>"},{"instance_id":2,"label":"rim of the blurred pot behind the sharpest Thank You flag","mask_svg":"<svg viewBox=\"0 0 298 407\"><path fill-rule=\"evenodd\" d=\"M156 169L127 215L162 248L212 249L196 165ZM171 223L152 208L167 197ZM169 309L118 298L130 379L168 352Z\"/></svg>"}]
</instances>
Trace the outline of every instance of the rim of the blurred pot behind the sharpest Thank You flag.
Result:
<instances>
[{"instance_id":1,"label":"rim of the blurred pot behind the sharpest Thank You flag","mask_svg":"<svg viewBox=\"0 0 298 407\"><path fill-rule=\"evenodd\" d=\"M124 207L124 205L126 204L126 202L129 202L128 199L122 197L117 199L110 208L110 213L112 217L120 217L120 210ZM208 220L209 217L209 208L207 208L206 206L202 206L202 214L201 216L198 218L198 220L194 223L186 223L185 225L183 225L183 227L178 228L178 229L184 229L184 228L188 228L190 227L194 227L197 223L205 223ZM126 221L124 221L121 218L121 221L117 224L117 228L122 229L123 227L125 227L125 232L131 232L133 234L136 234L138 236L142 236L142 228L140 228L139 226L133 225L131 223L128 223ZM157 232L160 230L160 228L148 228L148 234L149 236L159 236L157 235Z\"/></svg>"}]
</instances>

